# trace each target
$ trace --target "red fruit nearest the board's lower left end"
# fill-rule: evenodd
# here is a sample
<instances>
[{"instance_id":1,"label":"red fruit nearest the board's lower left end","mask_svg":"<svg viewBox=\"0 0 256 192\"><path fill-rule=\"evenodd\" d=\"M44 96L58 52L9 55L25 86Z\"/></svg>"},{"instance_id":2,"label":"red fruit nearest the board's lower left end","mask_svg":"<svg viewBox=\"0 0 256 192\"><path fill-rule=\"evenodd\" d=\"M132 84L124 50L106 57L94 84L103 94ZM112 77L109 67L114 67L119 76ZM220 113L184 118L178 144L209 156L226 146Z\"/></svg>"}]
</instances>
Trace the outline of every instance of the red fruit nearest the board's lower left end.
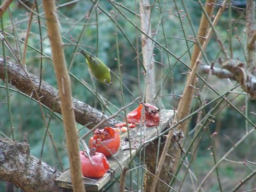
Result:
<instances>
[{"instance_id":1,"label":"red fruit nearest the board's lower left end","mask_svg":"<svg viewBox=\"0 0 256 192\"><path fill-rule=\"evenodd\" d=\"M85 177L99 178L109 170L109 163L102 153L91 153L92 162L84 151L80 151L80 160L82 165L82 173Z\"/></svg>"}]
</instances>

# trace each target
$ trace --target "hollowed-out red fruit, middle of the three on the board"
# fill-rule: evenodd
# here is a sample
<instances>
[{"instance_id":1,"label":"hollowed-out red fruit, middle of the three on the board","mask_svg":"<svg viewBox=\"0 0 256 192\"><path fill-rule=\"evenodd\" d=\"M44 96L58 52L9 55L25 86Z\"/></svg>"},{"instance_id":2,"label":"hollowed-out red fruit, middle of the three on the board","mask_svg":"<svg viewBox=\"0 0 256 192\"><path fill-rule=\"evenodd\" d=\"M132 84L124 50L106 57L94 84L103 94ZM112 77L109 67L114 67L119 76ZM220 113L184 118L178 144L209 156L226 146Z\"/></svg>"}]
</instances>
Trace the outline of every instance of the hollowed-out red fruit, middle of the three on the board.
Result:
<instances>
[{"instance_id":1,"label":"hollowed-out red fruit, middle of the three on the board","mask_svg":"<svg viewBox=\"0 0 256 192\"><path fill-rule=\"evenodd\" d=\"M111 153L115 154L118 151L120 142L117 130L112 127L105 127L95 130L94 136L90 138L89 148L96 148L97 152L103 153L108 158L111 157Z\"/></svg>"}]
</instances>

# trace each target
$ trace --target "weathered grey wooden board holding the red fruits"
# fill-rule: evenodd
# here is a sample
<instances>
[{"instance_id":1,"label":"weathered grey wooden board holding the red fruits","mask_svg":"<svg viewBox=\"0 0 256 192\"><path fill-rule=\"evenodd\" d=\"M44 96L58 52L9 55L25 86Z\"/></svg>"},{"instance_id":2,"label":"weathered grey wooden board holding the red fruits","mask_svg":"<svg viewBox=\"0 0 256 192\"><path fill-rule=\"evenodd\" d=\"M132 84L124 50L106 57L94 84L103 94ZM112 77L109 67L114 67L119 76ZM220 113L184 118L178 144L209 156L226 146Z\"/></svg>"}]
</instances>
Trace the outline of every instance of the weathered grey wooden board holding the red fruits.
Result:
<instances>
[{"instance_id":1,"label":"weathered grey wooden board holding the red fruits","mask_svg":"<svg viewBox=\"0 0 256 192\"><path fill-rule=\"evenodd\" d=\"M132 146L132 157L136 154L136 151L140 146L141 135L144 141L154 137L157 133L160 133L163 129L166 128L167 124L173 117L172 110L161 110L161 120L160 125L157 127L139 127L130 129L130 139ZM119 151L114 155L114 158L118 160L121 166L127 165L130 162L130 150L129 150L129 141L127 141L127 132L121 133L121 147ZM108 158L109 165L111 170L115 174L119 175L121 172L121 167L118 165L117 161L112 158ZM89 179L84 177L84 184L87 191L99 191L102 189L111 179L111 173L106 173L103 177L99 179ZM57 186L63 188L72 188L70 170L66 170L59 178L55 180Z\"/></svg>"}]
</instances>

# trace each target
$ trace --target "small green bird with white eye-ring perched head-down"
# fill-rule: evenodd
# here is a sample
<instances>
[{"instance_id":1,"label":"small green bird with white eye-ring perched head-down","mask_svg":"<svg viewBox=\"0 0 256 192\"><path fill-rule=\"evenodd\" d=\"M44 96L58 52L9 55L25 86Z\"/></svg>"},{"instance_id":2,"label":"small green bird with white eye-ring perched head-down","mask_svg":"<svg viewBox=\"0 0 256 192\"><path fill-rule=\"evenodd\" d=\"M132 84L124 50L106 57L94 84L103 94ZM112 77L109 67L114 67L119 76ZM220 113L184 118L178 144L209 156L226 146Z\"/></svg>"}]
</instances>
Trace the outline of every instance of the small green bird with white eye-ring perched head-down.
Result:
<instances>
[{"instance_id":1,"label":"small green bird with white eye-ring perched head-down","mask_svg":"<svg viewBox=\"0 0 256 192\"><path fill-rule=\"evenodd\" d=\"M111 83L110 68L105 65L96 56L81 50L80 53L85 57L86 63L89 67L91 75L102 83Z\"/></svg>"}]
</instances>

